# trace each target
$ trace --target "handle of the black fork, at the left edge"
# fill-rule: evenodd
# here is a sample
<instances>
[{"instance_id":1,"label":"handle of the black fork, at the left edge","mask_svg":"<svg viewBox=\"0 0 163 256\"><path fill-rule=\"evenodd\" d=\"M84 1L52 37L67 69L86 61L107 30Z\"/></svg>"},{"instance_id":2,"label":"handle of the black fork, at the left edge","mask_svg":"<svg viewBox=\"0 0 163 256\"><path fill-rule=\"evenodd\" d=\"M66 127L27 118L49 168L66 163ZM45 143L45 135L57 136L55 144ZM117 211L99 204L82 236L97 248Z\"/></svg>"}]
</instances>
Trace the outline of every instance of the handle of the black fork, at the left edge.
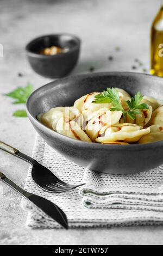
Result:
<instances>
[{"instance_id":1,"label":"handle of the black fork, at the left edge","mask_svg":"<svg viewBox=\"0 0 163 256\"><path fill-rule=\"evenodd\" d=\"M14 156L32 164L32 165L34 164L34 162L36 162L36 160L33 159L32 157L21 153L18 149L14 148L14 147L12 147L12 146L10 146L10 145L2 142L2 141L0 141L0 149L2 149L3 151L5 151L5 152L7 152L11 155L14 155Z\"/></svg>"}]
</instances>

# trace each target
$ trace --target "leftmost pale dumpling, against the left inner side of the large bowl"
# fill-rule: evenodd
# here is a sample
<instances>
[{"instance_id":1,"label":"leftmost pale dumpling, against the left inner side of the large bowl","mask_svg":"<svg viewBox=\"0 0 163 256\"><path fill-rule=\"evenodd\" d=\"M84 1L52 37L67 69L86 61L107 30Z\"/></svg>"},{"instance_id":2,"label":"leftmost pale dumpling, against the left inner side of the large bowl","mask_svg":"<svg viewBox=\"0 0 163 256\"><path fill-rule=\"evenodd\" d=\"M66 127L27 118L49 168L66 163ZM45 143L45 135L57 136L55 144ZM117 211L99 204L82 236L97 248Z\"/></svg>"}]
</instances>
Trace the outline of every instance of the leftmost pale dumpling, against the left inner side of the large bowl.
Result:
<instances>
[{"instance_id":1,"label":"leftmost pale dumpling, against the left inner side of the large bowl","mask_svg":"<svg viewBox=\"0 0 163 256\"><path fill-rule=\"evenodd\" d=\"M51 108L47 113L40 114L37 116L37 119L41 123L45 124L49 128L56 131L56 126L61 117L64 117L65 120L73 120L80 116L80 112L77 108L74 107L55 107Z\"/></svg>"}]
</instances>

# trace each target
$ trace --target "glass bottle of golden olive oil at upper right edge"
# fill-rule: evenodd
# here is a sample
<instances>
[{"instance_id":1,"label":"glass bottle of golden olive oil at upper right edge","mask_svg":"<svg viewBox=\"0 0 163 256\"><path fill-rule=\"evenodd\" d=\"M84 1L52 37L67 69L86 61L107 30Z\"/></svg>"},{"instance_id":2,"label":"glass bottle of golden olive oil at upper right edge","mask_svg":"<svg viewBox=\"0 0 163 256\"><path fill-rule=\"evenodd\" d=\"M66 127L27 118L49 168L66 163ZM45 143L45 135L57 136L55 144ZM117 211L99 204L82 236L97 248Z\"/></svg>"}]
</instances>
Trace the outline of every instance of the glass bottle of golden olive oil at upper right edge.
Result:
<instances>
[{"instance_id":1,"label":"glass bottle of golden olive oil at upper right edge","mask_svg":"<svg viewBox=\"0 0 163 256\"><path fill-rule=\"evenodd\" d=\"M163 77L163 0L151 30L151 74Z\"/></svg>"}]
</instances>

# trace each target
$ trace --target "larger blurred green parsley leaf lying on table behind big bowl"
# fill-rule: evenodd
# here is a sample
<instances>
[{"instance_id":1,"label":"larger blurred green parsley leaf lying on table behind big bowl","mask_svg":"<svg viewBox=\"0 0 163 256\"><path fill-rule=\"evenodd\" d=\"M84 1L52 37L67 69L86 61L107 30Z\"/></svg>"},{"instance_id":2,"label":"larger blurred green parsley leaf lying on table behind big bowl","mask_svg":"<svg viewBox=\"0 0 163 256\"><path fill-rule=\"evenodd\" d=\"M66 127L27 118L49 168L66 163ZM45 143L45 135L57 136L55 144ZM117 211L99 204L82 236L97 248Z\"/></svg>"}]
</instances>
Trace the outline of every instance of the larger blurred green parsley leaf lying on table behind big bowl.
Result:
<instances>
[{"instance_id":1,"label":"larger blurred green parsley leaf lying on table behind big bowl","mask_svg":"<svg viewBox=\"0 0 163 256\"><path fill-rule=\"evenodd\" d=\"M16 99L16 101L14 101L13 104L20 104L20 103L25 104L32 92L33 92L32 84L27 84L26 87L17 87L15 90L5 95L8 97L11 97L12 99Z\"/></svg>"}]
</instances>

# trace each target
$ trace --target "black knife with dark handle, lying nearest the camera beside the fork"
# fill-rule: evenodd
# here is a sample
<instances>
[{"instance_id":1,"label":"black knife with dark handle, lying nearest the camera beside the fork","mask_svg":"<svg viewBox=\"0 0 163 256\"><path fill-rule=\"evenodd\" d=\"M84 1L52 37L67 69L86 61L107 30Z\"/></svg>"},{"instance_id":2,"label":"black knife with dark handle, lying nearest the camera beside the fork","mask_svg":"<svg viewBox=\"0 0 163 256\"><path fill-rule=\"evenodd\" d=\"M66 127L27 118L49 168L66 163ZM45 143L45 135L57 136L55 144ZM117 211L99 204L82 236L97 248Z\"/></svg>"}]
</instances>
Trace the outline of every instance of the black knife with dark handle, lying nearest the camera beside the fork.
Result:
<instances>
[{"instance_id":1,"label":"black knife with dark handle, lying nearest the camera beside the fork","mask_svg":"<svg viewBox=\"0 0 163 256\"><path fill-rule=\"evenodd\" d=\"M24 198L28 199L30 202L35 204L40 208L45 214L53 218L54 221L58 222L62 227L68 229L68 222L65 213L51 201L36 196L35 194L29 193L23 190L21 187L17 186L14 182L9 180L3 173L0 172L0 181L3 181L5 184L12 187L16 192L20 193Z\"/></svg>"}]
</instances>

